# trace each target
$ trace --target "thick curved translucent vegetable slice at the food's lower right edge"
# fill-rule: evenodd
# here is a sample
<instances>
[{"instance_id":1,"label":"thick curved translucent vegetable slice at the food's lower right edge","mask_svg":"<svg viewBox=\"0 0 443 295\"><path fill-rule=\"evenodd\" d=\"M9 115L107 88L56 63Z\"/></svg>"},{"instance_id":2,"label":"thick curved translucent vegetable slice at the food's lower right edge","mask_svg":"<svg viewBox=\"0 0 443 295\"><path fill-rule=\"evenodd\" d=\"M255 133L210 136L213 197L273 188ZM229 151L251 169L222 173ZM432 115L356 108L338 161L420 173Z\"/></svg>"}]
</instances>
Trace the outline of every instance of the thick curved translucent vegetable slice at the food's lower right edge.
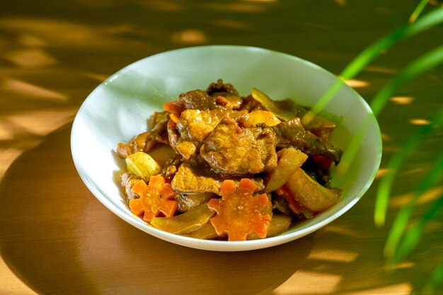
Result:
<instances>
[{"instance_id":1,"label":"thick curved translucent vegetable slice at the food's lower right edge","mask_svg":"<svg viewBox=\"0 0 443 295\"><path fill-rule=\"evenodd\" d=\"M341 191L321 186L301 168L286 183L289 195L313 212L323 212L338 202Z\"/></svg>"}]
</instances>

